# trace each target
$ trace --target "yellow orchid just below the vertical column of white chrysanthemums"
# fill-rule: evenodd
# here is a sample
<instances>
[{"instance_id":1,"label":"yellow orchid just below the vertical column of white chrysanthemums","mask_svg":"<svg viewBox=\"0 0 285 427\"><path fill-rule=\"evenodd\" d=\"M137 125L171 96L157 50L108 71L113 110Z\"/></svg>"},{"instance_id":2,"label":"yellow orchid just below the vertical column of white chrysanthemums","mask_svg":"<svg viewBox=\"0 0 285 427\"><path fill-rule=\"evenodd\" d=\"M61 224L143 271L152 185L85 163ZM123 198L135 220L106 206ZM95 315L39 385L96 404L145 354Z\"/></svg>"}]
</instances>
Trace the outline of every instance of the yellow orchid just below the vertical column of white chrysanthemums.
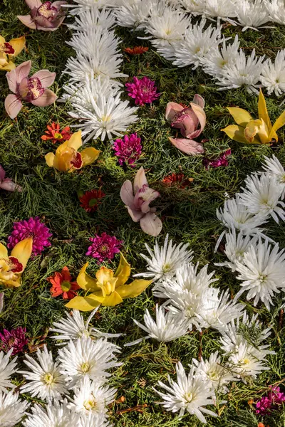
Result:
<instances>
[{"instance_id":1,"label":"yellow orchid just below the vertical column of white chrysanthemums","mask_svg":"<svg viewBox=\"0 0 285 427\"><path fill-rule=\"evenodd\" d=\"M100 151L93 147L88 147L79 153L77 150L82 146L81 130L75 132L71 139L63 142L56 149L56 154L46 154L46 164L49 167L54 167L59 172L73 172L76 169L81 169L88 164L95 162L98 159Z\"/></svg>"}]
</instances>

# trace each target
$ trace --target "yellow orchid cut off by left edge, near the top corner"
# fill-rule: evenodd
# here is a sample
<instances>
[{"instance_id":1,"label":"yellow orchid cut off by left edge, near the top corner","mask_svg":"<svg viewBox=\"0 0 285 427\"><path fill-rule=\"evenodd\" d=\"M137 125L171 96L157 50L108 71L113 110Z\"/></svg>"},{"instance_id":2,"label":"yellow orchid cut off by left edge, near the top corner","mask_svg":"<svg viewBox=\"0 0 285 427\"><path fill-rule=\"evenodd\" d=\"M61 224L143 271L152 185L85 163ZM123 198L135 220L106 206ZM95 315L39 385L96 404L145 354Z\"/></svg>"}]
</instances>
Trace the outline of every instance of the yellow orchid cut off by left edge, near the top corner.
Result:
<instances>
[{"instance_id":1,"label":"yellow orchid cut off by left edge, near the top corner","mask_svg":"<svg viewBox=\"0 0 285 427\"><path fill-rule=\"evenodd\" d=\"M12 38L9 42L6 42L5 38L0 36L0 70L11 71L16 68L11 58L18 56L23 51L25 43L25 36Z\"/></svg>"}]
</instances>

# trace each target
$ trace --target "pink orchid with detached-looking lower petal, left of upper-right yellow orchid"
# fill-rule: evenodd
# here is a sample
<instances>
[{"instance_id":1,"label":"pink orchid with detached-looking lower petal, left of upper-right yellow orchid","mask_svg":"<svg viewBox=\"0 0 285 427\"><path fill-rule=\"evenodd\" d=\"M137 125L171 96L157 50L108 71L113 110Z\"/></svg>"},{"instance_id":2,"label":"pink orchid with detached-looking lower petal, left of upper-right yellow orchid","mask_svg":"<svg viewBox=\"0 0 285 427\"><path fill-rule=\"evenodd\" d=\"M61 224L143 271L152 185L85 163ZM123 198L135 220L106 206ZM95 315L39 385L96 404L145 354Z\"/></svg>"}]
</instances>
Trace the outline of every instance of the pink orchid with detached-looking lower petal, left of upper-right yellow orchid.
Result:
<instances>
[{"instance_id":1,"label":"pink orchid with detached-looking lower petal, left of upper-right yellow orchid","mask_svg":"<svg viewBox=\"0 0 285 427\"><path fill-rule=\"evenodd\" d=\"M172 127L180 129L184 138L169 138L175 147L186 154L202 154L204 148L201 143L193 138L199 137L206 125L206 115L204 113L204 99L196 94L190 107L168 102L165 111L165 118Z\"/></svg>"}]
</instances>

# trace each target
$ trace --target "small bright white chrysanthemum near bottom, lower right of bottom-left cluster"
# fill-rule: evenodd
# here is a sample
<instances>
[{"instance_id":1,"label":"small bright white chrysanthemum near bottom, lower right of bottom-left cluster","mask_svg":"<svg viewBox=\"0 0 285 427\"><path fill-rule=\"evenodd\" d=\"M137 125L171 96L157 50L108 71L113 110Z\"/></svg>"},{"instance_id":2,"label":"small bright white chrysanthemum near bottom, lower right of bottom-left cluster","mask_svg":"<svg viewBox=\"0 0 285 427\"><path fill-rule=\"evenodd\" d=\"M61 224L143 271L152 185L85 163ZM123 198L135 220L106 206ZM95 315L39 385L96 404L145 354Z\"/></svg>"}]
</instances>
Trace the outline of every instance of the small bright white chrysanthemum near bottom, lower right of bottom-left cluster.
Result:
<instances>
[{"instance_id":1,"label":"small bright white chrysanthemum near bottom, lower right of bottom-left cluster","mask_svg":"<svg viewBox=\"0 0 285 427\"><path fill-rule=\"evenodd\" d=\"M86 376L83 381L74 388L74 396L68 404L72 411L88 415L89 412L95 413L105 418L107 406L115 400L116 389L104 386L100 379L90 381Z\"/></svg>"}]
</instances>

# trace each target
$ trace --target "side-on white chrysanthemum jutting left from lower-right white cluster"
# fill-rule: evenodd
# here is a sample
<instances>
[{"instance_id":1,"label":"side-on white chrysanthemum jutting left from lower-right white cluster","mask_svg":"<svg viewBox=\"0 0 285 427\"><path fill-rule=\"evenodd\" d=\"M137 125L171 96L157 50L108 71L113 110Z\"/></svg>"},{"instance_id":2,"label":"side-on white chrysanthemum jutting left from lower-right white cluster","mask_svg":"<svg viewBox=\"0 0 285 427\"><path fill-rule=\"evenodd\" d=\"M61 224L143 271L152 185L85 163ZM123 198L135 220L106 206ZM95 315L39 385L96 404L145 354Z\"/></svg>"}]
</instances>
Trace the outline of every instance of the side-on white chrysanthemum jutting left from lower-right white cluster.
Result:
<instances>
[{"instance_id":1,"label":"side-on white chrysanthemum jutting left from lower-right white cluster","mask_svg":"<svg viewBox=\"0 0 285 427\"><path fill-rule=\"evenodd\" d=\"M174 314L165 310L165 307L158 307L158 305L156 305L155 314L156 320L153 320L150 312L145 310L145 315L143 316L145 325L134 320L135 325L138 325L138 327L147 332L148 335L145 339L153 338L160 342L170 342L187 334L189 321L185 319L182 313ZM142 339L130 344L136 344L140 341L142 341Z\"/></svg>"}]
</instances>

